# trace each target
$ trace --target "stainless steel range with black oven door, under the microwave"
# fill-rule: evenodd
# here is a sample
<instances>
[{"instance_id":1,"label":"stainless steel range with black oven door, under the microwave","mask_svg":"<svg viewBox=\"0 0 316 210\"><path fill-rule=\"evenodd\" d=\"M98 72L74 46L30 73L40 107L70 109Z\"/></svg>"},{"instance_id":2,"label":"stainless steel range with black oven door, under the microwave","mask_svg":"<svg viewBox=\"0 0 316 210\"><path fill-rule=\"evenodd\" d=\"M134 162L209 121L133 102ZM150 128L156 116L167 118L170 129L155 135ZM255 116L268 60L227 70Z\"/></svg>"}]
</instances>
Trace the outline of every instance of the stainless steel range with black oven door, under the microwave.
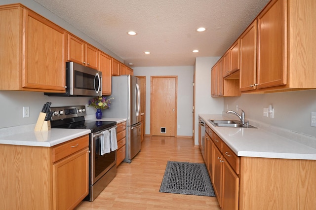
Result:
<instances>
[{"instance_id":1,"label":"stainless steel range with black oven door, under the microwave","mask_svg":"<svg viewBox=\"0 0 316 210\"><path fill-rule=\"evenodd\" d=\"M85 121L85 106L50 107L52 128L90 129L89 137L89 194L84 199L93 201L116 176L116 150L100 155L103 131L116 127L115 121Z\"/></svg>"}]
</instances>

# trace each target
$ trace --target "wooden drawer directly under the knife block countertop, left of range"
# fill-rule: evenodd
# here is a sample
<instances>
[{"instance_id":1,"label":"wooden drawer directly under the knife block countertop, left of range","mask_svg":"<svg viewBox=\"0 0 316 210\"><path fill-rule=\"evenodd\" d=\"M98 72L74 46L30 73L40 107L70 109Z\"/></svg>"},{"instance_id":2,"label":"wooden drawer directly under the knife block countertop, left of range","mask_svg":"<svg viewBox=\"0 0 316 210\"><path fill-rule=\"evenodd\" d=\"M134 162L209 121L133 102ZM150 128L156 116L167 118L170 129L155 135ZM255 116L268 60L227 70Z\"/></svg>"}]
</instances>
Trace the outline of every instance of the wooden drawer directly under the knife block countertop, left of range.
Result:
<instances>
[{"instance_id":1,"label":"wooden drawer directly under the knife block countertop, left of range","mask_svg":"<svg viewBox=\"0 0 316 210\"><path fill-rule=\"evenodd\" d=\"M89 146L89 136L85 135L52 148L53 163Z\"/></svg>"}]
</instances>

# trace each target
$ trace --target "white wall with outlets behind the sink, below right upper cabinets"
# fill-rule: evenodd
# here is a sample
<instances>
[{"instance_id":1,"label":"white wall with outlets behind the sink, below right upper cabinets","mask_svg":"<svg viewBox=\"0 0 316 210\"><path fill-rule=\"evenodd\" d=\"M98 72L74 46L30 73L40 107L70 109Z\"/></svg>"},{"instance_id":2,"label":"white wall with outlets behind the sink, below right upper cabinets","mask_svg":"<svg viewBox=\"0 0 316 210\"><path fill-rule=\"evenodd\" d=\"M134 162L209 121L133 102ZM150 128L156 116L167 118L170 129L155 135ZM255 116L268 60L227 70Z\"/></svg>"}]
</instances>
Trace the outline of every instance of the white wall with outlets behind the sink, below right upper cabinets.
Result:
<instances>
[{"instance_id":1,"label":"white wall with outlets behind the sink, below right upper cabinets","mask_svg":"<svg viewBox=\"0 0 316 210\"><path fill-rule=\"evenodd\" d=\"M311 112L316 112L316 90L241 94L225 98L225 111L227 105L230 110L235 110L236 105L242 108L246 121L255 120L316 138L316 127L311 126ZM269 105L275 108L274 118L263 116L263 107Z\"/></svg>"}]
</instances>

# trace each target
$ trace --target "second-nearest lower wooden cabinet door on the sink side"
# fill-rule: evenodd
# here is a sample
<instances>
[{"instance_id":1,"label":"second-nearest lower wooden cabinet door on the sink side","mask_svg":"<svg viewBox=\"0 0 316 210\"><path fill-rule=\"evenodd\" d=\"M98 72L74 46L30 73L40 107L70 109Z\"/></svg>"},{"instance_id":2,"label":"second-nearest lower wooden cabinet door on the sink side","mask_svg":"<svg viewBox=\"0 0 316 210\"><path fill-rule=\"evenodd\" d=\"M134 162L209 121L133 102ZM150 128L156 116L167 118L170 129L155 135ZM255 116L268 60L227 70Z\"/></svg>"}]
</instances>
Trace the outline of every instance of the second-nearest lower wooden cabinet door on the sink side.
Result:
<instances>
[{"instance_id":1,"label":"second-nearest lower wooden cabinet door on the sink side","mask_svg":"<svg viewBox=\"0 0 316 210\"><path fill-rule=\"evenodd\" d=\"M222 180L223 180L223 164L222 164L222 153L220 150L214 146L214 177L212 179L214 192L216 193L216 197L220 206L222 206Z\"/></svg>"}]
</instances>

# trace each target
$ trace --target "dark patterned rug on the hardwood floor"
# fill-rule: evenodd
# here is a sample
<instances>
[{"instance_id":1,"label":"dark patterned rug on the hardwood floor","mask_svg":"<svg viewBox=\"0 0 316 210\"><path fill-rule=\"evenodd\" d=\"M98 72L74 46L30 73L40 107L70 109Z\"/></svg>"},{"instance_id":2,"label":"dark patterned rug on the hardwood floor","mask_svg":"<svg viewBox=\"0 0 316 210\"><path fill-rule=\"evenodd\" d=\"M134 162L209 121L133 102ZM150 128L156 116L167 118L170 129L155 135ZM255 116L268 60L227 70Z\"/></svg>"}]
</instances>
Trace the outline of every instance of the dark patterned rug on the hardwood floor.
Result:
<instances>
[{"instance_id":1,"label":"dark patterned rug on the hardwood floor","mask_svg":"<svg viewBox=\"0 0 316 210\"><path fill-rule=\"evenodd\" d=\"M168 161L159 192L215 197L203 163Z\"/></svg>"}]
</instances>

